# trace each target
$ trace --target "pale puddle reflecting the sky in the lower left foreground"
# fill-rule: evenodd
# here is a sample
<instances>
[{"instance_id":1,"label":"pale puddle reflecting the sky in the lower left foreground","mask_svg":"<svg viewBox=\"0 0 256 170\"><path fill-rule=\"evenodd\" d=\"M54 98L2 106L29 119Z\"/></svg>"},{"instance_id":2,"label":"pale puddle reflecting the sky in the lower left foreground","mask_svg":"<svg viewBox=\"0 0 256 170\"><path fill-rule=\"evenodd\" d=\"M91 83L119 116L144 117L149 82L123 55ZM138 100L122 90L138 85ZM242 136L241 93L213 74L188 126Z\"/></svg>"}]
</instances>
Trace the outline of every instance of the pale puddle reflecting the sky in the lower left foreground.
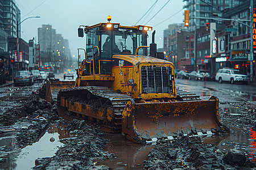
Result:
<instances>
[{"instance_id":1,"label":"pale puddle reflecting the sky in the lower left foreground","mask_svg":"<svg viewBox=\"0 0 256 170\"><path fill-rule=\"evenodd\" d=\"M15 136L0 138L0 150L10 150L9 153L1 155L0 169L31 169L35 166L36 159L52 157L58 148L64 145L59 140L68 137L70 135L64 126L52 125L38 142L22 150L15 148Z\"/></svg>"}]
</instances>

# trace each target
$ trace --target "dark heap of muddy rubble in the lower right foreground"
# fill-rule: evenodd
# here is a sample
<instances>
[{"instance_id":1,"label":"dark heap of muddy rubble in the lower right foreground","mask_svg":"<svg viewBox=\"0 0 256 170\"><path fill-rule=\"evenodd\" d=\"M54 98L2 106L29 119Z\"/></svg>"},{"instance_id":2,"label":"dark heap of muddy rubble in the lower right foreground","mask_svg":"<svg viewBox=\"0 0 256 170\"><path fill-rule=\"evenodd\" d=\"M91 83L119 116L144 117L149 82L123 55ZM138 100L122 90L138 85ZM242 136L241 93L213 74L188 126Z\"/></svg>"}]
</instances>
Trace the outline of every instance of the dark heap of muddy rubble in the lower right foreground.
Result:
<instances>
[{"instance_id":1,"label":"dark heap of muddy rubble in the lower right foreground","mask_svg":"<svg viewBox=\"0 0 256 170\"><path fill-rule=\"evenodd\" d=\"M145 169L250 169L255 164L238 151L225 152L207 145L200 138L180 137L155 146L144 162ZM242 160L234 160L234 159ZM224 161L225 160L225 161ZM246 162L245 162L246 160Z\"/></svg>"}]
</instances>

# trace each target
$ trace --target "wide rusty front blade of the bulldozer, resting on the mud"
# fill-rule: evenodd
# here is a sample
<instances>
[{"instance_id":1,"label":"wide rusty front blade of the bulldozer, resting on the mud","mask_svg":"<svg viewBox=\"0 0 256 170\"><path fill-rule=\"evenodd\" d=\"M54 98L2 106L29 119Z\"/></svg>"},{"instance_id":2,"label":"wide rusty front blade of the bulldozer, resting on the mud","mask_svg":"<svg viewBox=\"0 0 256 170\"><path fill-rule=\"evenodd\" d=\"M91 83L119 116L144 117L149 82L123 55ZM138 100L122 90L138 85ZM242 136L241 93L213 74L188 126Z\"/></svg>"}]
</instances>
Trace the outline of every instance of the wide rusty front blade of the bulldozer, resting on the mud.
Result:
<instances>
[{"instance_id":1,"label":"wide rusty front blade of the bulldozer, resting on the mud","mask_svg":"<svg viewBox=\"0 0 256 170\"><path fill-rule=\"evenodd\" d=\"M122 112L122 133L137 143L174 139L183 135L207 135L214 130L229 131L214 100L135 103L129 100Z\"/></svg>"}]
</instances>

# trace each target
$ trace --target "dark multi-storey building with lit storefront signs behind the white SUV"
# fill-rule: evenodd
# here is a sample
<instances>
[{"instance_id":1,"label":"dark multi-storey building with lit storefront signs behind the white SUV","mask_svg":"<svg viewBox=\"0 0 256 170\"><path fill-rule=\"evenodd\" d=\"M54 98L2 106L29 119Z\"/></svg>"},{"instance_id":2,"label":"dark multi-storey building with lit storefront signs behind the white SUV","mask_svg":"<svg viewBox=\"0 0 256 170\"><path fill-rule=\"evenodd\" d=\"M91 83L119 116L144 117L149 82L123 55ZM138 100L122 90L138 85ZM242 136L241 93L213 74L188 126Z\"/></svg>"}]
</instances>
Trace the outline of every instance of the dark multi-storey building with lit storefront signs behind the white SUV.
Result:
<instances>
[{"instance_id":1,"label":"dark multi-storey building with lit storefront signs behind the white SUV","mask_svg":"<svg viewBox=\"0 0 256 170\"><path fill-rule=\"evenodd\" d=\"M254 1L254 6L256 2ZM229 8L224 18L250 20L250 1L240 6ZM250 22L225 21L226 29L217 32L218 48L214 55L215 71L224 67L240 70L243 74L250 74ZM255 76L255 53L253 55L253 76Z\"/></svg>"}]
</instances>

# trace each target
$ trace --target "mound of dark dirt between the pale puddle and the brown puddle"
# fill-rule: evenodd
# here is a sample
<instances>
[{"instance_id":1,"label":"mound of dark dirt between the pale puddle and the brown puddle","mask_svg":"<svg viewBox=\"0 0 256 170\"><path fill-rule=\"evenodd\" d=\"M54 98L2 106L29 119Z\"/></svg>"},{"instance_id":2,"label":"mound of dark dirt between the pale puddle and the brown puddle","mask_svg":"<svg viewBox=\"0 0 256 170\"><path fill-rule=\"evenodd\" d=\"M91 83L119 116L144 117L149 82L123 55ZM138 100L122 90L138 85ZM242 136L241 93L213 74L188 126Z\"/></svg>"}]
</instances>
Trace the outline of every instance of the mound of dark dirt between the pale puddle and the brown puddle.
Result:
<instances>
[{"instance_id":1,"label":"mound of dark dirt between the pale puddle and the brown puddle","mask_svg":"<svg viewBox=\"0 0 256 170\"><path fill-rule=\"evenodd\" d=\"M108 140L100 130L80 120L73 120L67 129L76 137L61 139L65 145L52 158L39 158L39 164L34 169L108 169L106 166L96 167L92 162L96 158L105 160L115 157L102 150Z\"/></svg>"}]
</instances>

